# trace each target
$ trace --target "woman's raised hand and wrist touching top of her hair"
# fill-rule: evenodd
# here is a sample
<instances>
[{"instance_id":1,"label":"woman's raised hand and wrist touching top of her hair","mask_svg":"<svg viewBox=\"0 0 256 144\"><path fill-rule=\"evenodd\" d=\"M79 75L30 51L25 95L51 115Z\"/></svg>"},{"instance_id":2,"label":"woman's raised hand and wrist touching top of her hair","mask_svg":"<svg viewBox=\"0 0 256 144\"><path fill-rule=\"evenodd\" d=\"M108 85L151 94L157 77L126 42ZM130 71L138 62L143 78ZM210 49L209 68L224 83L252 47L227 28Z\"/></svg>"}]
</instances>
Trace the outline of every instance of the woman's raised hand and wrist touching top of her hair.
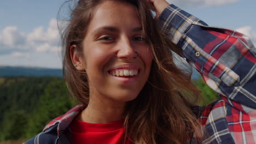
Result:
<instances>
[{"instance_id":1,"label":"woman's raised hand and wrist touching top of her hair","mask_svg":"<svg viewBox=\"0 0 256 144\"><path fill-rule=\"evenodd\" d=\"M152 10L155 11L155 19L158 19L162 11L169 5L165 0L147 0L152 6Z\"/></svg>"}]
</instances>

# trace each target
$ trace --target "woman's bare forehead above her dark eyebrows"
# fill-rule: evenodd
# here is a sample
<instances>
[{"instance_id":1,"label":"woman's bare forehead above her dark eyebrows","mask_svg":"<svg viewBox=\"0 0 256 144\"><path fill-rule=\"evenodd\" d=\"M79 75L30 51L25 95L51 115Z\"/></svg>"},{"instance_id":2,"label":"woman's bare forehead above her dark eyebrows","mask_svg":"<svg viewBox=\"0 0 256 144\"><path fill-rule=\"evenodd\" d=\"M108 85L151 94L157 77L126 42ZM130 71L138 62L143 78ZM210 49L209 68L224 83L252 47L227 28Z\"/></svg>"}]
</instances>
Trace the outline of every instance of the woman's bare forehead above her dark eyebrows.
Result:
<instances>
[{"instance_id":1,"label":"woman's bare forehead above her dark eyebrows","mask_svg":"<svg viewBox=\"0 0 256 144\"><path fill-rule=\"evenodd\" d=\"M88 30L103 26L139 27L141 20L135 6L117 1L106 1L96 7Z\"/></svg>"}]
</instances>

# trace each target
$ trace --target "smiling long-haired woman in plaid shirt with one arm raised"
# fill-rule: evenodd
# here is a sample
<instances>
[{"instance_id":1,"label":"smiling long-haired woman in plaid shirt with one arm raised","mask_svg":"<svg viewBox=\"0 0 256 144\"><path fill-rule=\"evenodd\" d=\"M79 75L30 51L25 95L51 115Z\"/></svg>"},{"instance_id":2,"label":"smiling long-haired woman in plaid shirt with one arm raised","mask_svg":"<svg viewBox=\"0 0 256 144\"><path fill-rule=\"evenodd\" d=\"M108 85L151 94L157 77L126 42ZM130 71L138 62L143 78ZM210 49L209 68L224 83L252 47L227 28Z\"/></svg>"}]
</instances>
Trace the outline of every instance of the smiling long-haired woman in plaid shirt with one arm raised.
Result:
<instances>
[{"instance_id":1,"label":"smiling long-haired woman in plaid shirt with one arm raised","mask_svg":"<svg viewBox=\"0 0 256 144\"><path fill-rule=\"evenodd\" d=\"M26 143L255 142L255 47L243 34L164 0L80 0L62 44L63 75L82 104ZM172 51L219 101L194 106L199 91Z\"/></svg>"}]
</instances>

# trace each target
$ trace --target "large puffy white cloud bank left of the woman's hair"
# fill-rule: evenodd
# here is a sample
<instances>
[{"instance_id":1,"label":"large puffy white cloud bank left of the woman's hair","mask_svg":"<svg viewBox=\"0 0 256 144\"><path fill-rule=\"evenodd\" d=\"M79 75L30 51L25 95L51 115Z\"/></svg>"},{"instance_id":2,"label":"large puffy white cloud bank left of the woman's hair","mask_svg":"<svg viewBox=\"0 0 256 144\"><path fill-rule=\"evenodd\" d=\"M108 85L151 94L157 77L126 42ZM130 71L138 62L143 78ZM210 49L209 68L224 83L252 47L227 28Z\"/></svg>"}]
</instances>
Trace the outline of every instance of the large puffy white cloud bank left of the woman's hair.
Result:
<instances>
[{"instance_id":1,"label":"large puffy white cloud bank left of the woman's hair","mask_svg":"<svg viewBox=\"0 0 256 144\"><path fill-rule=\"evenodd\" d=\"M8 26L0 32L0 51L8 50L10 53L10 49L13 51L19 49L20 51L59 52L61 50L59 41L55 19L50 20L46 30L43 27L37 27L28 34L19 32L18 27Z\"/></svg>"}]
</instances>

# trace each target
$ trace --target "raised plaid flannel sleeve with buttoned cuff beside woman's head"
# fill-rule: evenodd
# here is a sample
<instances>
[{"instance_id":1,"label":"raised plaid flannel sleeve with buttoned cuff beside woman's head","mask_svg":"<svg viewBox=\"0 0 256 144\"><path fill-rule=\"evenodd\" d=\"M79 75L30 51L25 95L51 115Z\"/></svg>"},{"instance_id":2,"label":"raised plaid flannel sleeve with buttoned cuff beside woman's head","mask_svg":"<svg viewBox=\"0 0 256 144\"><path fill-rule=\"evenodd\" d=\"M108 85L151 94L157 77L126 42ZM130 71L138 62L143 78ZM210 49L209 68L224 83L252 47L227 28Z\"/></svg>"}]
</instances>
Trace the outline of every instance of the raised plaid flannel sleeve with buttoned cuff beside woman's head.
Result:
<instances>
[{"instance_id":1,"label":"raised plaid flannel sleeve with buttoned cuff beside woman's head","mask_svg":"<svg viewBox=\"0 0 256 144\"><path fill-rule=\"evenodd\" d=\"M210 27L173 4L158 21L161 31L226 103L247 113L256 109L256 49L246 35Z\"/></svg>"}]
</instances>

